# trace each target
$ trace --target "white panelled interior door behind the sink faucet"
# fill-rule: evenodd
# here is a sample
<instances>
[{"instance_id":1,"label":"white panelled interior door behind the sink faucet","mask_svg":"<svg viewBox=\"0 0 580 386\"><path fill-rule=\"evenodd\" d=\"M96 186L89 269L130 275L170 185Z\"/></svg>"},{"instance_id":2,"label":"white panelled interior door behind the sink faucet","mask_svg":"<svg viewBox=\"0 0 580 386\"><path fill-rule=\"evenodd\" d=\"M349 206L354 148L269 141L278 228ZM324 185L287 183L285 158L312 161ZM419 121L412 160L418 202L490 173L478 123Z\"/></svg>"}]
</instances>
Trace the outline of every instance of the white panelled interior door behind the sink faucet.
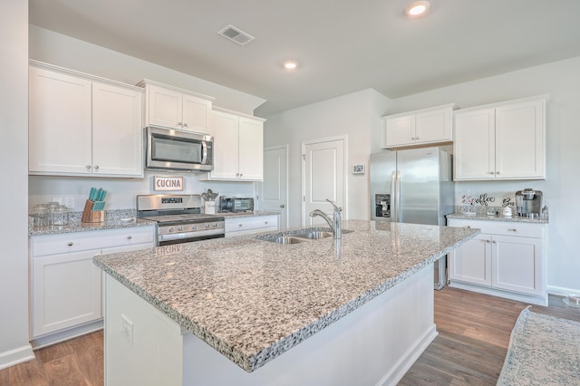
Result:
<instances>
[{"instance_id":1,"label":"white panelled interior door behind the sink faucet","mask_svg":"<svg viewBox=\"0 0 580 386\"><path fill-rule=\"evenodd\" d=\"M310 217L314 209L320 209L330 217L333 206L326 201L332 199L343 208L346 219L346 185L344 172L346 138L333 138L304 142L303 148L303 211L302 225L326 224L322 217Z\"/></svg>"}]
</instances>

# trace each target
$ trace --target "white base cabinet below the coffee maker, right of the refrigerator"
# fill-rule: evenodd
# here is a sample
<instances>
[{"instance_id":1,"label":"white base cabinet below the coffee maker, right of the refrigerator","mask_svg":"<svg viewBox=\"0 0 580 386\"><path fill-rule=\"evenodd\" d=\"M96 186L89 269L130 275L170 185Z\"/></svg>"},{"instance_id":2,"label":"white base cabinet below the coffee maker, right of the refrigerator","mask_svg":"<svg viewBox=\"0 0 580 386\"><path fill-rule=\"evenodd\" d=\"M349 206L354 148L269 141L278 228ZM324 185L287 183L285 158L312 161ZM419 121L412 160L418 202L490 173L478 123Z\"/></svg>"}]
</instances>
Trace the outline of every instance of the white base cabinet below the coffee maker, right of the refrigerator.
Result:
<instances>
[{"instance_id":1,"label":"white base cabinet below the coffee maker, right of the refrigerator","mask_svg":"<svg viewBox=\"0 0 580 386\"><path fill-rule=\"evenodd\" d=\"M482 232L449 254L450 285L547 304L544 224L449 219L449 227Z\"/></svg>"}]
</instances>

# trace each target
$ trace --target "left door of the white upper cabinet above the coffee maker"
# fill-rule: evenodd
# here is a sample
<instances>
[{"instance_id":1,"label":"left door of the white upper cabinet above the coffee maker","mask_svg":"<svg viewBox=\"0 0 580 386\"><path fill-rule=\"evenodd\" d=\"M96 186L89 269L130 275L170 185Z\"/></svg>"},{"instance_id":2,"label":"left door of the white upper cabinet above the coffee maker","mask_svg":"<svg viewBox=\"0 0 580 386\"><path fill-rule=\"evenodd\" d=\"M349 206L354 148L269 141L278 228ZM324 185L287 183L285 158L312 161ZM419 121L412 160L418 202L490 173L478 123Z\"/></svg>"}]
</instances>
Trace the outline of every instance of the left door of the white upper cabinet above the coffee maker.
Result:
<instances>
[{"instance_id":1,"label":"left door of the white upper cabinet above the coffee maker","mask_svg":"<svg viewBox=\"0 0 580 386\"><path fill-rule=\"evenodd\" d=\"M455 115L454 180L495 178L495 111Z\"/></svg>"}]
</instances>

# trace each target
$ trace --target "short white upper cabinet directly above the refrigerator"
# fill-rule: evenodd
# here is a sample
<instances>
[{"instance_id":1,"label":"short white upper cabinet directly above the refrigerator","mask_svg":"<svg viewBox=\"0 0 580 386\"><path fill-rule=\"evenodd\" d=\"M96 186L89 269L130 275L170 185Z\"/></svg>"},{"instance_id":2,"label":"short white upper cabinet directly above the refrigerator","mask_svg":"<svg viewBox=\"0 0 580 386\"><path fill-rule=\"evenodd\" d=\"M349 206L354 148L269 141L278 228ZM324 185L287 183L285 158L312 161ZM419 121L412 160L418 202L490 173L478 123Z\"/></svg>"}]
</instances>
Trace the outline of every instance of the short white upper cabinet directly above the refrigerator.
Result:
<instances>
[{"instance_id":1,"label":"short white upper cabinet directly above the refrigerator","mask_svg":"<svg viewBox=\"0 0 580 386\"><path fill-rule=\"evenodd\" d=\"M389 115L383 118L382 148L449 144L453 140L451 111L454 103Z\"/></svg>"}]
</instances>

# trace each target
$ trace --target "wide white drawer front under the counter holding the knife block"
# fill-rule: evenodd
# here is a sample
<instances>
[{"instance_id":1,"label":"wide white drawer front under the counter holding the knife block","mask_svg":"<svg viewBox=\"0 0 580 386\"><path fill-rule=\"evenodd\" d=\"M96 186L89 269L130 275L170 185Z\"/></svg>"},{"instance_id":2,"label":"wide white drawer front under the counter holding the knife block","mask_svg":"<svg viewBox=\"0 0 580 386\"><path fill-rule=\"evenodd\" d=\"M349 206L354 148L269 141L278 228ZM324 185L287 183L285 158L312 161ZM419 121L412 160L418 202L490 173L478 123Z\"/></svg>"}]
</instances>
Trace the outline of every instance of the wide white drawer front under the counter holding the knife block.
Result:
<instances>
[{"instance_id":1,"label":"wide white drawer front under the counter holding the knife block","mask_svg":"<svg viewBox=\"0 0 580 386\"><path fill-rule=\"evenodd\" d=\"M154 227L129 227L60 235L33 236L32 256L45 256L111 246L153 243Z\"/></svg>"}]
</instances>

